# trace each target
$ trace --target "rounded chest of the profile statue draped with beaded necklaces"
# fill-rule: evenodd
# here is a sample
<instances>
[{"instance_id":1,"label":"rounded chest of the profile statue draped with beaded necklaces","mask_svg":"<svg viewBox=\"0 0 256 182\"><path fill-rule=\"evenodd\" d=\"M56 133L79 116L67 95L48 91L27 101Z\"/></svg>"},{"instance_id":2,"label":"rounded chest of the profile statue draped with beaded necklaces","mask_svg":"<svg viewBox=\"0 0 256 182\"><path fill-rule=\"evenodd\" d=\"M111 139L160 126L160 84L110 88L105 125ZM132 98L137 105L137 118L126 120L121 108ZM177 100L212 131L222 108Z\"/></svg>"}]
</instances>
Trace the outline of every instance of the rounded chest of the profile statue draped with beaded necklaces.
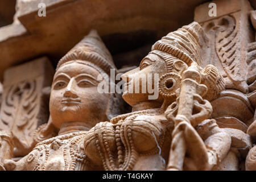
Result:
<instances>
[{"instance_id":1,"label":"rounded chest of the profile statue draped with beaded necklaces","mask_svg":"<svg viewBox=\"0 0 256 182\"><path fill-rule=\"evenodd\" d=\"M168 150L163 148L170 146L171 124L159 109L124 114L111 122L98 123L88 131L85 151L92 162L102 164L106 170L137 169L136 162L142 156L166 157ZM117 158L113 158L114 154Z\"/></svg>"}]
</instances>

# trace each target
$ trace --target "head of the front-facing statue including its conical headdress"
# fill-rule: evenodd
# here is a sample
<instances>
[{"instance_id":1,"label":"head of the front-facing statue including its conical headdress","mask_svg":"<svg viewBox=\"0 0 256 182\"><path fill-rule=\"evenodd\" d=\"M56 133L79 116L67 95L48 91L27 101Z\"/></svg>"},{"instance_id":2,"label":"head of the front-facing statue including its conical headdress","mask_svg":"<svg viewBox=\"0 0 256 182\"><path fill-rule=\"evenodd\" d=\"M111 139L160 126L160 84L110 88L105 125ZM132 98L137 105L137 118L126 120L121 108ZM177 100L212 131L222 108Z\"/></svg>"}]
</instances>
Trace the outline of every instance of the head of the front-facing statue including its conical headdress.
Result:
<instances>
[{"instance_id":1,"label":"head of the front-facing statue including its conical headdress","mask_svg":"<svg viewBox=\"0 0 256 182\"><path fill-rule=\"evenodd\" d=\"M97 32L92 30L57 64L49 111L52 124L83 122L88 128L109 119L112 95L98 93L98 76L115 69L112 56ZM118 110L118 108L116 109Z\"/></svg>"}]
</instances>

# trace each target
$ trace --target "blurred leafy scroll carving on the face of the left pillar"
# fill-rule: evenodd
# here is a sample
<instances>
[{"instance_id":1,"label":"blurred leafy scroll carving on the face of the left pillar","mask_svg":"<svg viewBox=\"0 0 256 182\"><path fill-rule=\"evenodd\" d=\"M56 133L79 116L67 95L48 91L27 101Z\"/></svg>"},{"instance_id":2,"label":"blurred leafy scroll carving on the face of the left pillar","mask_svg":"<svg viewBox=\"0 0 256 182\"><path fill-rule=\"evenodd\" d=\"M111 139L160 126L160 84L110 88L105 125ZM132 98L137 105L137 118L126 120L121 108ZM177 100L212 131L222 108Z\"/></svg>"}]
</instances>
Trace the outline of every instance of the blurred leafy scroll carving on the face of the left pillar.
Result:
<instances>
[{"instance_id":1,"label":"blurred leafy scroll carving on the face of the left pillar","mask_svg":"<svg viewBox=\"0 0 256 182\"><path fill-rule=\"evenodd\" d=\"M31 134L38 126L42 79L39 76L9 85L3 93L0 128L12 131L15 146L25 152L30 148Z\"/></svg>"}]
</instances>

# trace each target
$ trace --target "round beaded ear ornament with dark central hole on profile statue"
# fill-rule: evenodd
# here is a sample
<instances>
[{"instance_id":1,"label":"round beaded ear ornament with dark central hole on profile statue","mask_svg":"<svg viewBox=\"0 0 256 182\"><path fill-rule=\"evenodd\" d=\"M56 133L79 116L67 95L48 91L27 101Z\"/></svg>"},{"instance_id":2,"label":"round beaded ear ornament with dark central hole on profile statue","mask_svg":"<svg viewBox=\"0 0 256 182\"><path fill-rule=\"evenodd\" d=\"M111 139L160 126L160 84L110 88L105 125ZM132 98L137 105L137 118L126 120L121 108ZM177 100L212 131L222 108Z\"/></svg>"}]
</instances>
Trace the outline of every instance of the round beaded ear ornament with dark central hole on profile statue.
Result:
<instances>
[{"instance_id":1,"label":"round beaded ear ornament with dark central hole on profile statue","mask_svg":"<svg viewBox=\"0 0 256 182\"><path fill-rule=\"evenodd\" d=\"M180 88L181 76L176 73L167 73L159 79L159 93L166 99L176 98L175 91Z\"/></svg>"}]
</instances>

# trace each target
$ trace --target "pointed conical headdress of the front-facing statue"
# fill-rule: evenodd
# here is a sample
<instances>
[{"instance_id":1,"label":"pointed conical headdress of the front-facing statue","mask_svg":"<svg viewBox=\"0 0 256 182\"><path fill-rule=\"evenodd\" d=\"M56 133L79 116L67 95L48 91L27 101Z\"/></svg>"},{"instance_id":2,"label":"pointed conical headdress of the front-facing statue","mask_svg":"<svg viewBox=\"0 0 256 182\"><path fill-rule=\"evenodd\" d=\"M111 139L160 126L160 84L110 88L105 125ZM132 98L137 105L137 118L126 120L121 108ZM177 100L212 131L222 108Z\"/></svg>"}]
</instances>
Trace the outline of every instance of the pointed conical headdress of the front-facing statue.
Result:
<instances>
[{"instance_id":1,"label":"pointed conical headdress of the front-facing statue","mask_svg":"<svg viewBox=\"0 0 256 182\"><path fill-rule=\"evenodd\" d=\"M75 47L73 47L57 64L57 69L69 61L87 61L110 75L110 69L116 69L112 56L102 42L96 30L91 30Z\"/></svg>"}]
</instances>

